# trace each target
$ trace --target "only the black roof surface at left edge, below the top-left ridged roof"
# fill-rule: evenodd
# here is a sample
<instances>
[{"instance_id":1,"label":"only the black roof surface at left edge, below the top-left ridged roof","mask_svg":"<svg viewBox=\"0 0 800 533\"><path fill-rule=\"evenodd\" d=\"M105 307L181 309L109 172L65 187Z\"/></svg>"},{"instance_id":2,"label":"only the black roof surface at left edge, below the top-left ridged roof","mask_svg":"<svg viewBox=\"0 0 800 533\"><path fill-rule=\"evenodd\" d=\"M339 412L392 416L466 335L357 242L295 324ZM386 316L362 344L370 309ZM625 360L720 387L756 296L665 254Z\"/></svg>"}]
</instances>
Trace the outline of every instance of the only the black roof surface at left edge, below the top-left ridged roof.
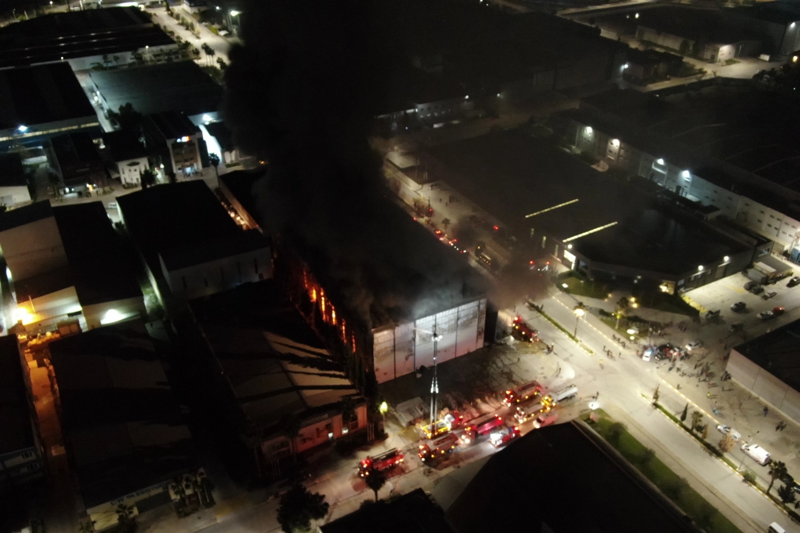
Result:
<instances>
[{"instance_id":1,"label":"only the black roof surface at left edge, below the top-left ridged roof","mask_svg":"<svg viewBox=\"0 0 800 533\"><path fill-rule=\"evenodd\" d=\"M15 25L6 28L11 26ZM94 107L69 63L0 70L0 129L77 118L97 122Z\"/></svg>"}]
</instances>

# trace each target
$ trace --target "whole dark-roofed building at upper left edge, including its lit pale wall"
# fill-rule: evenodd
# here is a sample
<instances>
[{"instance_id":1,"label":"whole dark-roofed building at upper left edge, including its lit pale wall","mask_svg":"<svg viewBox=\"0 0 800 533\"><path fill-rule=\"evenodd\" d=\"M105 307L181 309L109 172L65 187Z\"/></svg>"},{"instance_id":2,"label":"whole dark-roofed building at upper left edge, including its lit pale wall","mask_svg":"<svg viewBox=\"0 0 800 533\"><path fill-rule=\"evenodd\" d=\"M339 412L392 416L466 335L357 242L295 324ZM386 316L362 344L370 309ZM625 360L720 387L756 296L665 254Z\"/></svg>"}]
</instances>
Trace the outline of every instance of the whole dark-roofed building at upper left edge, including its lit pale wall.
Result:
<instances>
[{"instance_id":1,"label":"whole dark-roofed building at upper left edge, including its lit pale wall","mask_svg":"<svg viewBox=\"0 0 800 533\"><path fill-rule=\"evenodd\" d=\"M66 63L0 70L0 87L0 145L100 131L97 113Z\"/></svg>"}]
</instances>

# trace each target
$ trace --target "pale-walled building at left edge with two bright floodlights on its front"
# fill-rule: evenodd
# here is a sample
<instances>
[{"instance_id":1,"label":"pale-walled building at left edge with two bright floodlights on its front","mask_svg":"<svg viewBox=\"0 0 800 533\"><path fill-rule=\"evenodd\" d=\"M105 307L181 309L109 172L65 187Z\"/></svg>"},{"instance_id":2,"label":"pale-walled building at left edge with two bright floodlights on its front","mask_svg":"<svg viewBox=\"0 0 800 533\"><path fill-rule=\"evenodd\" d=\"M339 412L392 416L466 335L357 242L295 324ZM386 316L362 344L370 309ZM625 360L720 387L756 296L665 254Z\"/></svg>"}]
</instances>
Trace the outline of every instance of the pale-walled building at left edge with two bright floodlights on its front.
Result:
<instances>
[{"instance_id":1,"label":"pale-walled building at left edge with two bright floodlights on its front","mask_svg":"<svg viewBox=\"0 0 800 533\"><path fill-rule=\"evenodd\" d=\"M14 305L6 325L50 331L74 319L82 329L144 315L144 299L102 202L50 207L50 202L0 214L0 246Z\"/></svg>"}]
</instances>

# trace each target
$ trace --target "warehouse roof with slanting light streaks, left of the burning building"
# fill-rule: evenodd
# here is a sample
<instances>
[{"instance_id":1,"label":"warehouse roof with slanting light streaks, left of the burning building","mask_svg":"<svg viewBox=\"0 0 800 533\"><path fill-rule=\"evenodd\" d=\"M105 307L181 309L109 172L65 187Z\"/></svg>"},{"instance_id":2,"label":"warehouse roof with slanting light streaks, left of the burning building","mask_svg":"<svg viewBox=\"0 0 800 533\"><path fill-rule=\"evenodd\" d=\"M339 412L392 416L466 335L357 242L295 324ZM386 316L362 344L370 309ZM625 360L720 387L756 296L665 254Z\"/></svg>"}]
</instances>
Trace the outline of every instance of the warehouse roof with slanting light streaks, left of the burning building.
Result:
<instances>
[{"instance_id":1,"label":"warehouse roof with slanting light streaks, left of the burning building","mask_svg":"<svg viewBox=\"0 0 800 533\"><path fill-rule=\"evenodd\" d=\"M312 416L357 395L341 365L272 279L190 302L219 366L251 422Z\"/></svg>"}]
</instances>

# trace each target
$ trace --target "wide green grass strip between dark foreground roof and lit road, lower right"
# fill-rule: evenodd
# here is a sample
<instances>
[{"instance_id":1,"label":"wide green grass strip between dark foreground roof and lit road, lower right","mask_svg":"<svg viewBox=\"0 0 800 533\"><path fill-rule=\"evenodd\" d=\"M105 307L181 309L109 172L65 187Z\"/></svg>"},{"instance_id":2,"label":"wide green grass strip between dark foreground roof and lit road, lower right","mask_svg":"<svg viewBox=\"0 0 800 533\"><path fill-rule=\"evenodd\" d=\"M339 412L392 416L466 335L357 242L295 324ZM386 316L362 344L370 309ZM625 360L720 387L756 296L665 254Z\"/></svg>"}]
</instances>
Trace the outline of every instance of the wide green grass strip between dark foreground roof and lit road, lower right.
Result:
<instances>
[{"instance_id":1,"label":"wide green grass strip between dark foreground roof and lit road, lower right","mask_svg":"<svg viewBox=\"0 0 800 533\"><path fill-rule=\"evenodd\" d=\"M672 500L682 509L694 523L705 529L708 533L742 533L734 526L725 515L717 510L698 494L686 479L681 478L670 470L660 459L655 456L655 452L645 447L633 435L627 431L622 423L611 419L610 416L600 409L586 414L581 419L590 425L606 439L622 457L631 463L647 479L650 479L658 490L662 491L667 498Z\"/></svg>"}]
</instances>

